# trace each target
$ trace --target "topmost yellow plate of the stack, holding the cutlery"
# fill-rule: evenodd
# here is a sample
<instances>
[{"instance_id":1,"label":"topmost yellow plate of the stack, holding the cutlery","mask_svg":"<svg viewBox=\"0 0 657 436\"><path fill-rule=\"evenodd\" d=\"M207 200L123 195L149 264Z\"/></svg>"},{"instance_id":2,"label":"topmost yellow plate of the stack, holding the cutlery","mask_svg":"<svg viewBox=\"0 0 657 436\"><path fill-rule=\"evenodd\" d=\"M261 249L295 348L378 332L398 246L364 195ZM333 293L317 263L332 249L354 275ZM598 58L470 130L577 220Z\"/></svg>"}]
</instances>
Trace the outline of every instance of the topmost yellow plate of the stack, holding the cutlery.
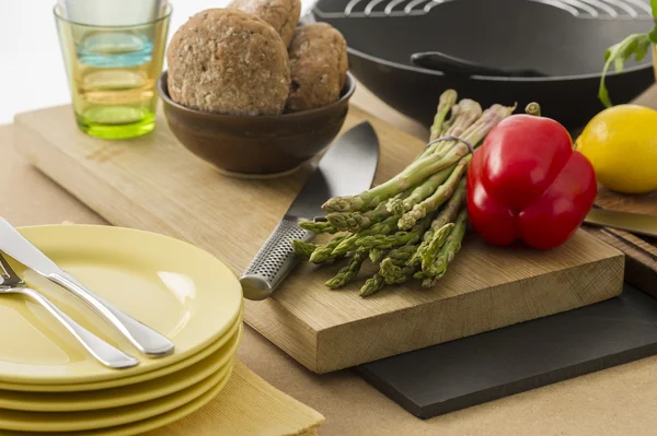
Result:
<instances>
[{"instance_id":1,"label":"topmost yellow plate of the stack, holding the cutlery","mask_svg":"<svg viewBox=\"0 0 657 436\"><path fill-rule=\"evenodd\" d=\"M216 342L240 314L238 278L217 258L187 243L112 226L55 225L20 231L95 293L170 338L175 353L155 360L139 355L78 298L14 263L30 285L141 363L123 370L106 368L41 306L20 296L2 295L0 382L71 385L152 372ZM10 331L12 334L7 334Z\"/></svg>"}]
</instances>

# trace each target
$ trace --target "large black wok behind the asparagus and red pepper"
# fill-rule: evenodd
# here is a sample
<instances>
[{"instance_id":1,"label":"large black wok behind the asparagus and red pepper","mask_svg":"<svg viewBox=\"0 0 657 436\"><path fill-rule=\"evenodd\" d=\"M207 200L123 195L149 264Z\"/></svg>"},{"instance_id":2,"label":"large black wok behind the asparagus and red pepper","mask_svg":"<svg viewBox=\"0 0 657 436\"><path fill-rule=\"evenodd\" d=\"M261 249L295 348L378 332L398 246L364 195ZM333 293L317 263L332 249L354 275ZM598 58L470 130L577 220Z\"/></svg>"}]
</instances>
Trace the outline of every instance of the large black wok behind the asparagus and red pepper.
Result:
<instances>
[{"instance_id":1,"label":"large black wok behind the asparagus and red pepper","mask_svg":"<svg viewBox=\"0 0 657 436\"><path fill-rule=\"evenodd\" d=\"M581 127L603 108L597 95L607 47L653 23L648 0L320 0L312 12L345 35L356 78L425 125L453 87L483 106L538 102L544 116ZM415 66L411 57L422 51L546 76L443 73ZM650 57L609 74L613 103L637 96L654 74Z\"/></svg>"}]
</instances>

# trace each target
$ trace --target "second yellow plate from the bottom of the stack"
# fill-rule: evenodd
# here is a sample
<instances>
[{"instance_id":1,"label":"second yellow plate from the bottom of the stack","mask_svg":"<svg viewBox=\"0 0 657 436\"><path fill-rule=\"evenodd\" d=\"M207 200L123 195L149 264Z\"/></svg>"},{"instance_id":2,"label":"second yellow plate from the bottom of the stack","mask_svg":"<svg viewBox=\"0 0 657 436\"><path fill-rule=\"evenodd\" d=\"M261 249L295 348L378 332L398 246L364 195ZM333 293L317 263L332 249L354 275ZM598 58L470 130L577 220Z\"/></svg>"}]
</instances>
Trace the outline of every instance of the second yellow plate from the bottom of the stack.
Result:
<instances>
[{"instance_id":1,"label":"second yellow plate from the bottom of the stack","mask_svg":"<svg viewBox=\"0 0 657 436\"><path fill-rule=\"evenodd\" d=\"M15 432L83 432L114 427L148 420L175 410L210 391L227 379L234 366L233 358L210 377L196 385L157 400L122 408L87 412L23 412L0 410L0 428Z\"/></svg>"}]
</instances>

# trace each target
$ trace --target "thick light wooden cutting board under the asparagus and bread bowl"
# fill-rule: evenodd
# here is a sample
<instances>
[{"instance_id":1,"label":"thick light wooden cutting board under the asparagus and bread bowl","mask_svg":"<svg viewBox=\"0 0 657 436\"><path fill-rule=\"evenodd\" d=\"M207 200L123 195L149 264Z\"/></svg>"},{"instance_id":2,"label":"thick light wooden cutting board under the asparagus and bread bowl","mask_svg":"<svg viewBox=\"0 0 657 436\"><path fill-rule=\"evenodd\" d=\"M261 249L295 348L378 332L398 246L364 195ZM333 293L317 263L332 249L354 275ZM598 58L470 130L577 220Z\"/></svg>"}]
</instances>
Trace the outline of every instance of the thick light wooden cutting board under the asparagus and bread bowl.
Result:
<instances>
[{"instance_id":1,"label":"thick light wooden cutting board under the asparagus and bread bowl","mask_svg":"<svg viewBox=\"0 0 657 436\"><path fill-rule=\"evenodd\" d=\"M364 120L380 139L377 184L424 146L356 107L345 129ZM227 178L182 148L161 115L152 134L124 142L81 133L67 106L16 116L14 134L37 168L108 222L186 239L238 274L309 174ZM309 369L326 373L610 298L622 290L623 269L620 251L583 231L550 251L489 247L470 235L433 290L413 283L361 298L365 278L333 292L323 283L335 266L300 266L272 298L246 302L245 320Z\"/></svg>"}]
</instances>

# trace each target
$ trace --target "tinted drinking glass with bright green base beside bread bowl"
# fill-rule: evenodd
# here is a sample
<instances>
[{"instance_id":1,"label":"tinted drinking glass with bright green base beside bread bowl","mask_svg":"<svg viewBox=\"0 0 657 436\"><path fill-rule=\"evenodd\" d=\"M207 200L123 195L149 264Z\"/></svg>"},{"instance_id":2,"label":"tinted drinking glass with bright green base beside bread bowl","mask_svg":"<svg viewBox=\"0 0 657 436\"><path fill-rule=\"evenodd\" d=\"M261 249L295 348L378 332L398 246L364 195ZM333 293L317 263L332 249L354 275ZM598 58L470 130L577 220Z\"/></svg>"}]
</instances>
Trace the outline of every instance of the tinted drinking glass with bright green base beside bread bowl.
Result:
<instances>
[{"instance_id":1,"label":"tinted drinking glass with bright green base beside bread bowl","mask_svg":"<svg viewBox=\"0 0 657 436\"><path fill-rule=\"evenodd\" d=\"M129 1L131 8L122 7L126 0L60 0L55 7L76 119L97 138L134 138L155 126L155 82L172 9L162 0Z\"/></svg>"}]
</instances>

